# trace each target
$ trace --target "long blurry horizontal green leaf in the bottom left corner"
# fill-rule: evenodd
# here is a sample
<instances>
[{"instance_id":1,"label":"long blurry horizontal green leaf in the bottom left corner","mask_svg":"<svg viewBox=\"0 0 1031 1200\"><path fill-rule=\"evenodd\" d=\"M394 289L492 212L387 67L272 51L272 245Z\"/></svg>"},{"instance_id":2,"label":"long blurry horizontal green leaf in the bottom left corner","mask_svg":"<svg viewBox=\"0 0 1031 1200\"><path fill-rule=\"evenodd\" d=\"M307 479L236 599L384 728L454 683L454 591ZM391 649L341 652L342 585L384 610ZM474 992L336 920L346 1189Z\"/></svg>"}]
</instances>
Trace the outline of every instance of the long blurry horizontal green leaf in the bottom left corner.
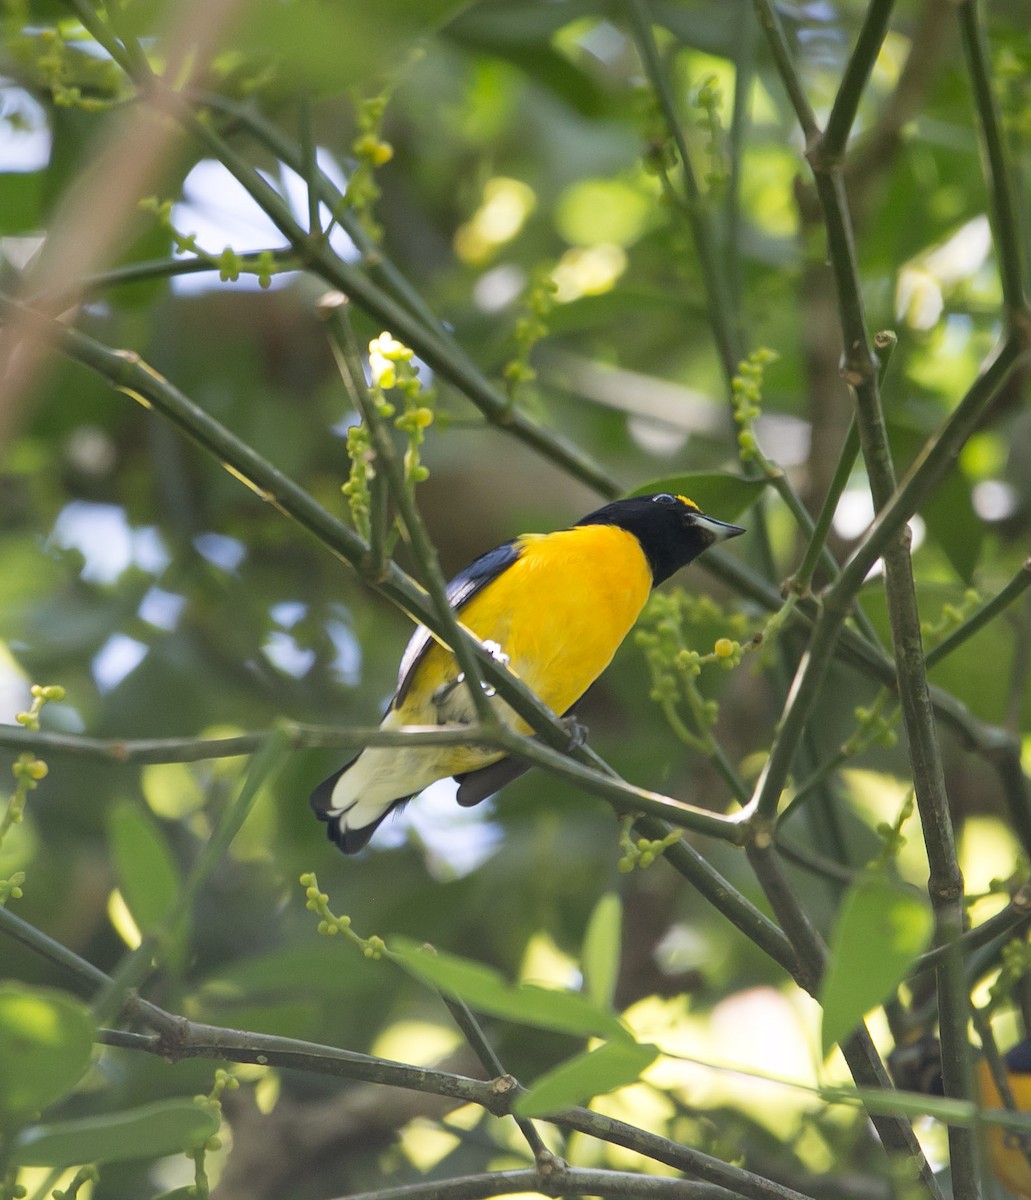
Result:
<instances>
[{"instance_id":1,"label":"long blurry horizontal green leaf in the bottom left corner","mask_svg":"<svg viewBox=\"0 0 1031 1200\"><path fill-rule=\"evenodd\" d=\"M206 1141L218 1116L193 1100L161 1100L126 1112L23 1129L11 1148L16 1166L76 1166L162 1158Z\"/></svg>"}]
</instances>

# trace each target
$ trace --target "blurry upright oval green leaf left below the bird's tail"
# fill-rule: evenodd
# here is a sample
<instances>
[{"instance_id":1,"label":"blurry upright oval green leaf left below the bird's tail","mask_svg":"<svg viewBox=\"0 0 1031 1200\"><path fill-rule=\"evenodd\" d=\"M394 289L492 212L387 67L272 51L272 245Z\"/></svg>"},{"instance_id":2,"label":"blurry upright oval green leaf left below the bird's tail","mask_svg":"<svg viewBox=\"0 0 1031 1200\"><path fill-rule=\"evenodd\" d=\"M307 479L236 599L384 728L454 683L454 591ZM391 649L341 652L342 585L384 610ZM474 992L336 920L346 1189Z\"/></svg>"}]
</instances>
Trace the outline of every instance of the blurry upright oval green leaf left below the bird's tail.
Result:
<instances>
[{"instance_id":1,"label":"blurry upright oval green leaf left below the bird's tail","mask_svg":"<svg viewBox=\"0 0 1031 1200\"><path fill-rule=\"evenodd\" d=\"M138 805L116 804L108 835L122 899L142 934L150 934L172 912L182 882L157 824Z\"/></svg>"}]
</instances>

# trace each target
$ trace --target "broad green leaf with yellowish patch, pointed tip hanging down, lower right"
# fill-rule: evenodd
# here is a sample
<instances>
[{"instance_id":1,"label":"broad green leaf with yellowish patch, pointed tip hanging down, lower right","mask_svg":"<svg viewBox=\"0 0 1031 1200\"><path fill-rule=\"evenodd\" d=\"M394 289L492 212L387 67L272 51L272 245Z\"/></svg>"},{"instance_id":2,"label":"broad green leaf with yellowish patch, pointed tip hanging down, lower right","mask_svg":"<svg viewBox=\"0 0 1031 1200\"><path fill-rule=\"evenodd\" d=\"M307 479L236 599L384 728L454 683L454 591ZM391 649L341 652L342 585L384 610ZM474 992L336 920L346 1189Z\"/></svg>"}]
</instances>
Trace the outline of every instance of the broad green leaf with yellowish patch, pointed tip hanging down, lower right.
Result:
<instances>
[{"instance_id":1,"label":"broad green leaf with yellowish patch, pointed tip hanging down, lower right","mask_svg":"<svg viewBox=\"0 0 1031 1200\"><path fill-rule=\"evenodd\" d=\"M864 875L849 889L820 990L825 1055L895 990L933 931L930 905L913 888Z\"/></svg>"}]
</instances>

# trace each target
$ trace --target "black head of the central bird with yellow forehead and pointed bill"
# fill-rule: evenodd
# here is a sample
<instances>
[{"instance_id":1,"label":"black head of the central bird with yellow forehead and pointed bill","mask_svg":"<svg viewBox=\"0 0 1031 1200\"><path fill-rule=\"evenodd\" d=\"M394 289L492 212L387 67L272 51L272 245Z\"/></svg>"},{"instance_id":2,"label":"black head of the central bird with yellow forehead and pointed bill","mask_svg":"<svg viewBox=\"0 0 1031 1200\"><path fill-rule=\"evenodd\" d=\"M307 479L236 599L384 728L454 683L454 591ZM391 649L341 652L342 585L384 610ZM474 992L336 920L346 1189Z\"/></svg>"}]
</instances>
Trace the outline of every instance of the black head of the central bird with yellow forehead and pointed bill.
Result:
<instances>
[{"instance_id":1,"label":"black head of the central bird with yellow forehead and pointed bill","mask_svg":"<svg viewBox=\"0 0 1031 1200\"><path fill-rule=\"evenodd\" d=\"M653 586L687 566L709 546L744 533L741 526L707 517L685 496L666 492L613 500L576 523L615 524L633 533L652 568Z\"/></svg>"}]
</instances>

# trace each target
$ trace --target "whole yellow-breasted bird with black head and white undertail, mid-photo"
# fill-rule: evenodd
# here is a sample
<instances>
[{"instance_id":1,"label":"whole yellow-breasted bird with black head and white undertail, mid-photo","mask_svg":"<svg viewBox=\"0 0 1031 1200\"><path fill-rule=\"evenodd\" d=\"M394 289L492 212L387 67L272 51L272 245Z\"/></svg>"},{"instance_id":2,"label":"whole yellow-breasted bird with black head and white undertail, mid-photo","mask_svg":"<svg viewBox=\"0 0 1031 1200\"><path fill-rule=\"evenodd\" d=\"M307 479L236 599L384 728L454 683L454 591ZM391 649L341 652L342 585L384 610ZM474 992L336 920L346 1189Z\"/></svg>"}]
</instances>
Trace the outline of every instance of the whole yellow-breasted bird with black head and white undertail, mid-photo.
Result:
<instances>
[{"instance_id":1,"label":"whole yellow-breasted bird with black head and white undertail, mid-photo","mask_svg":"<svg viewBox=\"0 0 1031 1200\"><path fill-rule=\"evenodd\" d=\"M576 524L528 533L481 554L448 584L461 624L555 713L567 714L609 666L652 588L717 542L745 530L669 492L612 500ZM528 733L487 689L498 716ZM452 652L416 628L401 659L382 730L469 725L475 704ZM388 814L452 775L470 806L528 769L478 745L366 746L311 793L316 816L346 854Z\"/></svg>"}]
</instances>

